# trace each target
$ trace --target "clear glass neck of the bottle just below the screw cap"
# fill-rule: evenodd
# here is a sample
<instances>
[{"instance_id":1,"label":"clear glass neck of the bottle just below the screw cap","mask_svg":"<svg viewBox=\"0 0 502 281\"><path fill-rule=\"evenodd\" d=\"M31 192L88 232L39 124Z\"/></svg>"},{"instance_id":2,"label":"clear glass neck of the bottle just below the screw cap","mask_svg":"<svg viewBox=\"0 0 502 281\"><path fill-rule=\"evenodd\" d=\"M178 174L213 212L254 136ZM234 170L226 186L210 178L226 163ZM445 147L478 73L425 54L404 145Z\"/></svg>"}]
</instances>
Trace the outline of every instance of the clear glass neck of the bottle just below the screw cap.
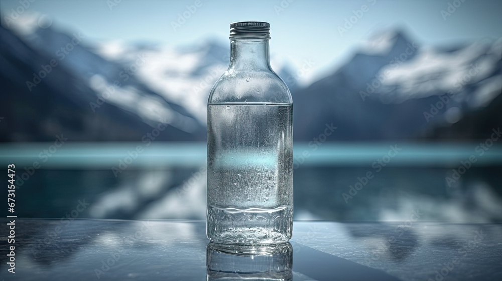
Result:
<instances>
[{"instance_id":1,"label":"clear glass neck of the bottle just below the screw cap","mask_svg":"<svg viewBox=\"0 0 502 281\"><path fill-rule=\"evenodd\" d=\"M229 70L270 70L268 39L231 39Z\"/></svg>"}]
</instances>

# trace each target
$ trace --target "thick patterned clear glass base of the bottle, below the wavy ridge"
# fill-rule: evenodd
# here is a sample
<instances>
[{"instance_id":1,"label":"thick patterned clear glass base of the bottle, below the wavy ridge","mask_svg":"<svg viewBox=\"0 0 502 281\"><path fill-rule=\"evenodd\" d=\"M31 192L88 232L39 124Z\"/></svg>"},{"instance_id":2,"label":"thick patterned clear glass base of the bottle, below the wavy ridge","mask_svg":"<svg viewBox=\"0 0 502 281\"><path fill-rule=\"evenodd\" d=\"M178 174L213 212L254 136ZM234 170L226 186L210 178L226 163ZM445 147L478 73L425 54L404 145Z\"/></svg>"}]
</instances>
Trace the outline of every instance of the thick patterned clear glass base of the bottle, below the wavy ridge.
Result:
<instances>
[{"instance_id":1,"label":"thick patterned clear glass base of the bottle, below the wavy ridge","mask_svg":"<svg viewBox=\"0 0 502 281\"><path fill-rule=\"evenodd\" d=\"M269 245L289 241L293 232L293 209L237 209L207 207L207 238L239 245Z\"/></svg>"}]
</instances>

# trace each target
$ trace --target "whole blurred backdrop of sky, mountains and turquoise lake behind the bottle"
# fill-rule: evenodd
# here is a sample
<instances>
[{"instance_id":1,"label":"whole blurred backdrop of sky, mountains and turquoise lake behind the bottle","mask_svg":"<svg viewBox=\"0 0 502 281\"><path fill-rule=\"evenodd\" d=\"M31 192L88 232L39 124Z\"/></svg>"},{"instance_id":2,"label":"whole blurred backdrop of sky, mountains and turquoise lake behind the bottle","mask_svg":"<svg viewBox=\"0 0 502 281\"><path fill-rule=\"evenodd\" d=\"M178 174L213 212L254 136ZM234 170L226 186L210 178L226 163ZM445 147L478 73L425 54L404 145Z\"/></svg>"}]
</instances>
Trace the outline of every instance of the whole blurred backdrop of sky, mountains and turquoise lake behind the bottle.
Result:
<instances>
[{"instance_id":1,"label":"whole blurred backdrop of sky, mountains and turquoise lake behind the bottle","mask_svg":"<svg viewBox=\"0 0 502 281\"><path fill-rule=\"evenodd\" d=\"M502 222L500 11L2 0L0 163L16 165L15 214L205 219L207 97L229 24L256 20L293 96L296 220Z\"/></svg>"}]
</instances>

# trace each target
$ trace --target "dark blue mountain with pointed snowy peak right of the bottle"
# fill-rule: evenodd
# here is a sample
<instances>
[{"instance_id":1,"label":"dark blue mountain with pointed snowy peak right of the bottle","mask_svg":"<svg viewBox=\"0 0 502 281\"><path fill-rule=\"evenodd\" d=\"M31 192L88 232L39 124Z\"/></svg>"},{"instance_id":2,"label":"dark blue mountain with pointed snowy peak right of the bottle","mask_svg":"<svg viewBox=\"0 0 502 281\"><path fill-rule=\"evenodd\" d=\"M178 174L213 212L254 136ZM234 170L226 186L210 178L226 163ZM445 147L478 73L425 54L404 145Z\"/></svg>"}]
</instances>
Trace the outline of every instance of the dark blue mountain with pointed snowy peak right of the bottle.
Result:
<instances>
[{"instance_id":1,"label":"dark blue mountain with pointed snowy peak right of the bottle","mask_svg":"<svg viewBox=\"0 0 502 281\"><path fill-rule=\"evenodd\" d=\"M338 126L331 139L483 137L491 128L463 124L479 112L486 116L476 122L502 121L501 54L500 39L440 49L383 32L333 74L294 92L295 137L313 139L326 123Z\"/></svg>"}]
</instances>

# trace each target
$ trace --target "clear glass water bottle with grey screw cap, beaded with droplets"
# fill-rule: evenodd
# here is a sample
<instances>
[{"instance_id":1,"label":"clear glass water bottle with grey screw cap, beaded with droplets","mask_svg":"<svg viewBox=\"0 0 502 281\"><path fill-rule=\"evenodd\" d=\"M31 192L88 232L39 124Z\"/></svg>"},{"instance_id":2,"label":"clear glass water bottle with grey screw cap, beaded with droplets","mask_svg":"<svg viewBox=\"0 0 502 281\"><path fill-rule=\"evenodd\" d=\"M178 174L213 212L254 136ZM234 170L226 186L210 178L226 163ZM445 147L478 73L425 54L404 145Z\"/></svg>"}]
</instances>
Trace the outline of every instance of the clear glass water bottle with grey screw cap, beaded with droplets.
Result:
<instances>
[{"instance_id":1,"label":"clear glass water bottle with grey screw cap, beaded with droplets","mask_svg":"<svg viewBox=\"0 0 502 281\"><path fill-rule=\"evenodd\" d=\"M230 66L207 106L207 237L287 242L293 231L293 101L269 63L265 22L230 24Z\"/></svg>"}]
</instances>

